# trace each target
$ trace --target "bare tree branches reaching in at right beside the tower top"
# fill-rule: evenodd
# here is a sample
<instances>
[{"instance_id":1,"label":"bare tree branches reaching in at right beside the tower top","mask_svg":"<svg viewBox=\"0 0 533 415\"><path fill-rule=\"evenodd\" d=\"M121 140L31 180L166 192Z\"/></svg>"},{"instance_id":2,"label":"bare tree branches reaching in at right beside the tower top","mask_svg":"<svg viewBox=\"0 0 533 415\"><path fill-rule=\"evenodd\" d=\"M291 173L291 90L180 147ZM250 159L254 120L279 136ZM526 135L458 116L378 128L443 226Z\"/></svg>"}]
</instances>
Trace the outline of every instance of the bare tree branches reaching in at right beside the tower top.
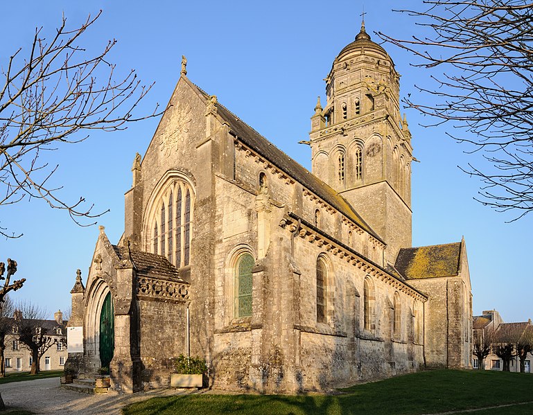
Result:
<instances>
[{"instance_id":1,"label":"bare tree branches reaching in at right beside the tower top","mask_svg":"<svg viewBox=\"0 0 533 415\"><path fill-rule=\"evenodd\" d=\"M483 183L476 200L514 220L533 210L533 3L527 0L424 0L424 10L396 10L422 35L382 39L414 53L433 87L417 87L408 107L451 123L489 164L463 168ZM429 125L426 125L429 126ZM494 166L494 167L492 167Z\"/></svg>"}]
</instances>

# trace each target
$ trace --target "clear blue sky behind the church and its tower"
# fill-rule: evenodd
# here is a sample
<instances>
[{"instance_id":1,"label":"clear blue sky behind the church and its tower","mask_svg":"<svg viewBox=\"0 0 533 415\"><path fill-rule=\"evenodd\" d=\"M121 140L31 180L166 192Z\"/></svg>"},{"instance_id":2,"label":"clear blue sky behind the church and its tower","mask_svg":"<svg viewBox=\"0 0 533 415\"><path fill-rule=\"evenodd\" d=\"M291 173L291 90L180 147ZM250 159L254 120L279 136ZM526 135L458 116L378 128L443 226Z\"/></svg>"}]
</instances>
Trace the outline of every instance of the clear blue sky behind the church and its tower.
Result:
<instances>
[{"instance_id":1,"label":"clear blue sky behind the church and its tower","mask_svg":"<svg viewBox=\"0 0 533 415\"><path fill-rule=\"evenodd\" d=\"M412 18L392 12L398 1L367 1L367 32L381 30L397 37L419 33ZM401 2L417 7L421 1ZM405 4L403 6L405 6ZM166 105L180 76L186 55L188 76L220 103L252 125L306 168L310 150L298 141L308 138L316 97L325 102L324 81L340 50L358 33L361 1L335 1L335 12L324 1L10 1L2 4L0 65L17 48L28 46L35 26L51 35L62 12L68 24L80 24L103 9L86 33L89 50L116 38L112 61L118 71L137 69L146 83L155 81L143 110ZM405 6L406 7L406 6ZM342 12L344 10L344 12ZM374 40L378 40L372 34ZM428 73L410 67L412 58L385 45L401 73L401 96L416 94L414 84L428 82ZM473 200L479 182L458 165L480 161L464 154L445 136L446 128L427 123L406 111L413 135L413 245L460 241L469 254L473 312L496 308L505 321L527 321L532 310L532 221L526 217L505 223L509 214L491 211ZM131 125L125 132L95 132L81 144L46 154L60 168L55 182L62 197L84 196L96 211L111 209L98 220L107 236L118 242L123 232L124 199L132 182L135 152L144 154L157 120ZM17 240L0 240L0 258L19 263L18 278L26 278L12 298L27 299L53 313L70 306L76 269L86 281L98 227L81 228L68 215L52 211L40 200L0 207L0 226L24 232Z\"/></svg>"}]
</instances>

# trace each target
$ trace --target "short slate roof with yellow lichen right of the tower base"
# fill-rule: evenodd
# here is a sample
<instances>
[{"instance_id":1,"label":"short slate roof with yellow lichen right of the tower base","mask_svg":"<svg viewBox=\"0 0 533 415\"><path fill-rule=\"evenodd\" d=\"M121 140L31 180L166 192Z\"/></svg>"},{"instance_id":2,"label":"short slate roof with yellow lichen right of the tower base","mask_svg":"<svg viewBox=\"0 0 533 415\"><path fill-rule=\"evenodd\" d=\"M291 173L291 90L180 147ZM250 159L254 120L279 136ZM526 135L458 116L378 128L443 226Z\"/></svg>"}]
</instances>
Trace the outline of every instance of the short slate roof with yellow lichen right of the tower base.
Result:
<instances>
[{"instance_id":1,"label":"short slate roof with yellow lichen right of the tower base","mask_svg":"<svg viewBox=\"0 0 533 415\"><path fill-rule=\"evenodd\" d=\"M406 279L435 278L459 274L461 242L428 247L402 248L394 267Z\"/></svg>"}]
</instances>

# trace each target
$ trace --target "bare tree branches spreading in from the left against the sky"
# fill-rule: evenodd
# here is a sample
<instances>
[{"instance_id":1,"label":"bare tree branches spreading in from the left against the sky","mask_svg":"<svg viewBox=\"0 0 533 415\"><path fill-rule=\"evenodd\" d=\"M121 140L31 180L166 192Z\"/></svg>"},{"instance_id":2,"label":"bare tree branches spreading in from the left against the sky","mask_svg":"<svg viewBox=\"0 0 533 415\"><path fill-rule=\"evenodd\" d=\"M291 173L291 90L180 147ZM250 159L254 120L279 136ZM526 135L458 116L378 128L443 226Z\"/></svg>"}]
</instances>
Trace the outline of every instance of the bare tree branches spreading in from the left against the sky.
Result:
<instances>
[{"instance_id":1,"label":"bare tree branches spreading in from the left against the sky","mask_svg":"<svg viewBox=\"0 0 533 415\"><path fill-rule=\"evenodd\" d=\"M1 62L0 206L37 198L68 211L78 224L96 218L102 213L93 213L83 197L73 202L60 198L61 187L51 184L58 166L50 166L44 153L79 143L93 130L123 130L127 123L158 115L157 106L148 116L134 114L153 84L141 85L134 70L117 80L114 64L107 61L116 40L95 55L80 46L100 15L89 15L75 28L67 28L63 17L48 38L37 28L29 48ZM21 236L2 225L3 236Z\"/></svg>"}]
</instances>

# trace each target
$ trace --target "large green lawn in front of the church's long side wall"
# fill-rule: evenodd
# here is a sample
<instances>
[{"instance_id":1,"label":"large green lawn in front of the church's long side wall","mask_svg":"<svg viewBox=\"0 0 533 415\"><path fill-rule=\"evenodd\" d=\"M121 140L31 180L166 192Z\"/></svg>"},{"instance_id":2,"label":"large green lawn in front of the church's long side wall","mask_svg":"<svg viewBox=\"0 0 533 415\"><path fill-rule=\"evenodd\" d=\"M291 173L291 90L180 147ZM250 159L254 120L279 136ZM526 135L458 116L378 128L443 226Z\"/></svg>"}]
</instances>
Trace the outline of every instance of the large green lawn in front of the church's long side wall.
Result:
<instances>
[{"instance_id":1,"label":"large green lawn in front of the church's long side wall","mask_svg":"<svg viewBox=\"0 0 533 415\"><path fill-rule=\"evenodd\" d=\"M340 390L338 395L189 394L128 405L125 415L432 414L533 401L533 375L493 371L437 370L412 373ZM473 415L533 414L533 404L468 412ZM466 415L466 413L464 413Z\"/></svg>"}]
</instances>

